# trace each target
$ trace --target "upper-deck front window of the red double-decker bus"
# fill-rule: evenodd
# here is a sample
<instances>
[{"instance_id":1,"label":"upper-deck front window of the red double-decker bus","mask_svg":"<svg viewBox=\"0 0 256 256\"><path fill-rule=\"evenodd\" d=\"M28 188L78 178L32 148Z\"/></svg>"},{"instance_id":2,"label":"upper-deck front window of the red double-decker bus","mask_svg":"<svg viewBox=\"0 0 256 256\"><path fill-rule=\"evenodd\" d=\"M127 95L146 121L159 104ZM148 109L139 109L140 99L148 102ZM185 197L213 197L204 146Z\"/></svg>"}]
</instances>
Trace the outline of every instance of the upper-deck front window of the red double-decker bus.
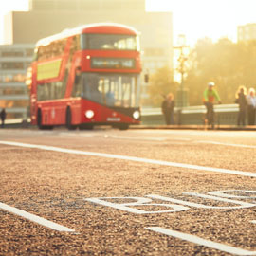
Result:
<instances>
[{"instance_id":1,"label":"upper-deck front window of the red double-decker bus","mask_svg":"<svg viewBox=\"0 0 256 256\"><path fill-rule=\"evenodd\" d=\"M139 50L136 35L82 34L82 49Z\"/></svg>"}]
</instances>

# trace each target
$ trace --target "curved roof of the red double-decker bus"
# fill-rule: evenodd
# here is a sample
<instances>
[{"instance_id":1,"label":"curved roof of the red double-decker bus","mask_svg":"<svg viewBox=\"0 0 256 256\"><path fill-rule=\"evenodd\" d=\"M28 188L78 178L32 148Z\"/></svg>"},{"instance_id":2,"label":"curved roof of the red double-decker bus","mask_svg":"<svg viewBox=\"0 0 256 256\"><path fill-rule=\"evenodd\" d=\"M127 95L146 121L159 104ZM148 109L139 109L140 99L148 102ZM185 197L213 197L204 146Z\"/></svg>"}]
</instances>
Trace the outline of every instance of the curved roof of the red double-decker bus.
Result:
<instances>
[{"instance_id":1,"label":"curved roof of the red double-decker bus","mask_svg":"<svg viewBox=\"0 0 256 256\"><path fill-rule=\"evenodd\" d=\"M53 41L61 40L73 35L84 34L84 33L90 33L90 34L109 33L109 34L132 34L132 35L139 34L139 32L134 27L129 27L129 26L121 25L117 23L95 23L95 24L89 24L89 25L82 25L80 27L74 27L70 29L69 28L64 29L62 32L58 34L40 39L36 43L36 46L46 46Z\"/></svg>"}]
</instances>

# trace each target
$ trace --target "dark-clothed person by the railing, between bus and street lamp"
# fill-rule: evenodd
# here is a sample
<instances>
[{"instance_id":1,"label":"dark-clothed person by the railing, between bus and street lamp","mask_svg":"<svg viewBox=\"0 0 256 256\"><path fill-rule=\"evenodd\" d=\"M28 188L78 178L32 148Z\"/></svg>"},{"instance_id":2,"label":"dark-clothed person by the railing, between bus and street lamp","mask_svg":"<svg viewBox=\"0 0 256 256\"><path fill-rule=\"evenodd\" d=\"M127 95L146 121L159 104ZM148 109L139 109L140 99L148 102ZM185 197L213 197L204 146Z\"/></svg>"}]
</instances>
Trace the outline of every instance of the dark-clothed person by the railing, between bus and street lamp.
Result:
<instances>
[{"instance_id":1,"label":"dark-clothed person by the railing, between bus and street lamp","mask_svg":"<svg viewBox=\"0 0 256 256\"><path fill-rule=\"evenodd\" d=\"M165 100L162 102L162 113L165 118L165 123L167 125L169 124L175 124L174 122L174 94L169 93Z\"/></svg>"}]
</instances>

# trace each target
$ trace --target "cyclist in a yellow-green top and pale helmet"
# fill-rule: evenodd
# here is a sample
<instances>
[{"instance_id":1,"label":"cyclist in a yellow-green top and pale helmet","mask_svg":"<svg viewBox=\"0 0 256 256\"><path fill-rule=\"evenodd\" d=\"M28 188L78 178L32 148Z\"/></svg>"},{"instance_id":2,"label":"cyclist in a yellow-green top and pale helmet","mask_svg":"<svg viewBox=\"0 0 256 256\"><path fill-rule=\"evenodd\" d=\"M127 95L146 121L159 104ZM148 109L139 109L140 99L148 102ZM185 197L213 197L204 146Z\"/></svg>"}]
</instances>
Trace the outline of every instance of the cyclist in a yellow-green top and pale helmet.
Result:
<instances>
[{"instance_id":1,"label":"cyclist in a yellow-green top and pale helmet","mask_svg":"<svg viewBox=\"0 0 256 256\"><path fill-rule=\"evenodd\" d=\"M204 104L207 108L207 123L214 128L214 108L213 108L213 103L214 101L218 101L219 104L221 104L221 100L219 97L218 92L213 89L215 86L214 82L209 82L208 83L208 88L205 89L204 91Z\"/></svg>"}]
</instances>

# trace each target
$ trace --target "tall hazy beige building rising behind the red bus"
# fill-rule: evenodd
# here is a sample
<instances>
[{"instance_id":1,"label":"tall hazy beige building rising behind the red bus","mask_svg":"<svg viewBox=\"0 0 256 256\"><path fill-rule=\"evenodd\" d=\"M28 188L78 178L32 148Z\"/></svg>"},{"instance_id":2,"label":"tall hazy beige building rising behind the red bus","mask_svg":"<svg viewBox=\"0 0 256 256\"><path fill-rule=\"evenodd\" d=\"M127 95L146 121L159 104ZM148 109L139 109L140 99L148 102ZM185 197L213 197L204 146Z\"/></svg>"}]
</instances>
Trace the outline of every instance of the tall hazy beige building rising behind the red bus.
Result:
<instances>
[{"instance_id":1,"label":"tall hazy beige building rising behind the red bus","mask_svg":"<svg viewBox=\"0 0 256 256\"><path fill-rule=\"evenodd\" d=\"M35 44L66 28L100 22L120 23L140 31L142 78L160 67L173 66L172 13L146 12L145 0L30 0L29 11L14 11L6 16L9 26L5 43ZM141 103L145 105L148 88L142 79L141 83Z\"/></svg>"}]
</instances>

